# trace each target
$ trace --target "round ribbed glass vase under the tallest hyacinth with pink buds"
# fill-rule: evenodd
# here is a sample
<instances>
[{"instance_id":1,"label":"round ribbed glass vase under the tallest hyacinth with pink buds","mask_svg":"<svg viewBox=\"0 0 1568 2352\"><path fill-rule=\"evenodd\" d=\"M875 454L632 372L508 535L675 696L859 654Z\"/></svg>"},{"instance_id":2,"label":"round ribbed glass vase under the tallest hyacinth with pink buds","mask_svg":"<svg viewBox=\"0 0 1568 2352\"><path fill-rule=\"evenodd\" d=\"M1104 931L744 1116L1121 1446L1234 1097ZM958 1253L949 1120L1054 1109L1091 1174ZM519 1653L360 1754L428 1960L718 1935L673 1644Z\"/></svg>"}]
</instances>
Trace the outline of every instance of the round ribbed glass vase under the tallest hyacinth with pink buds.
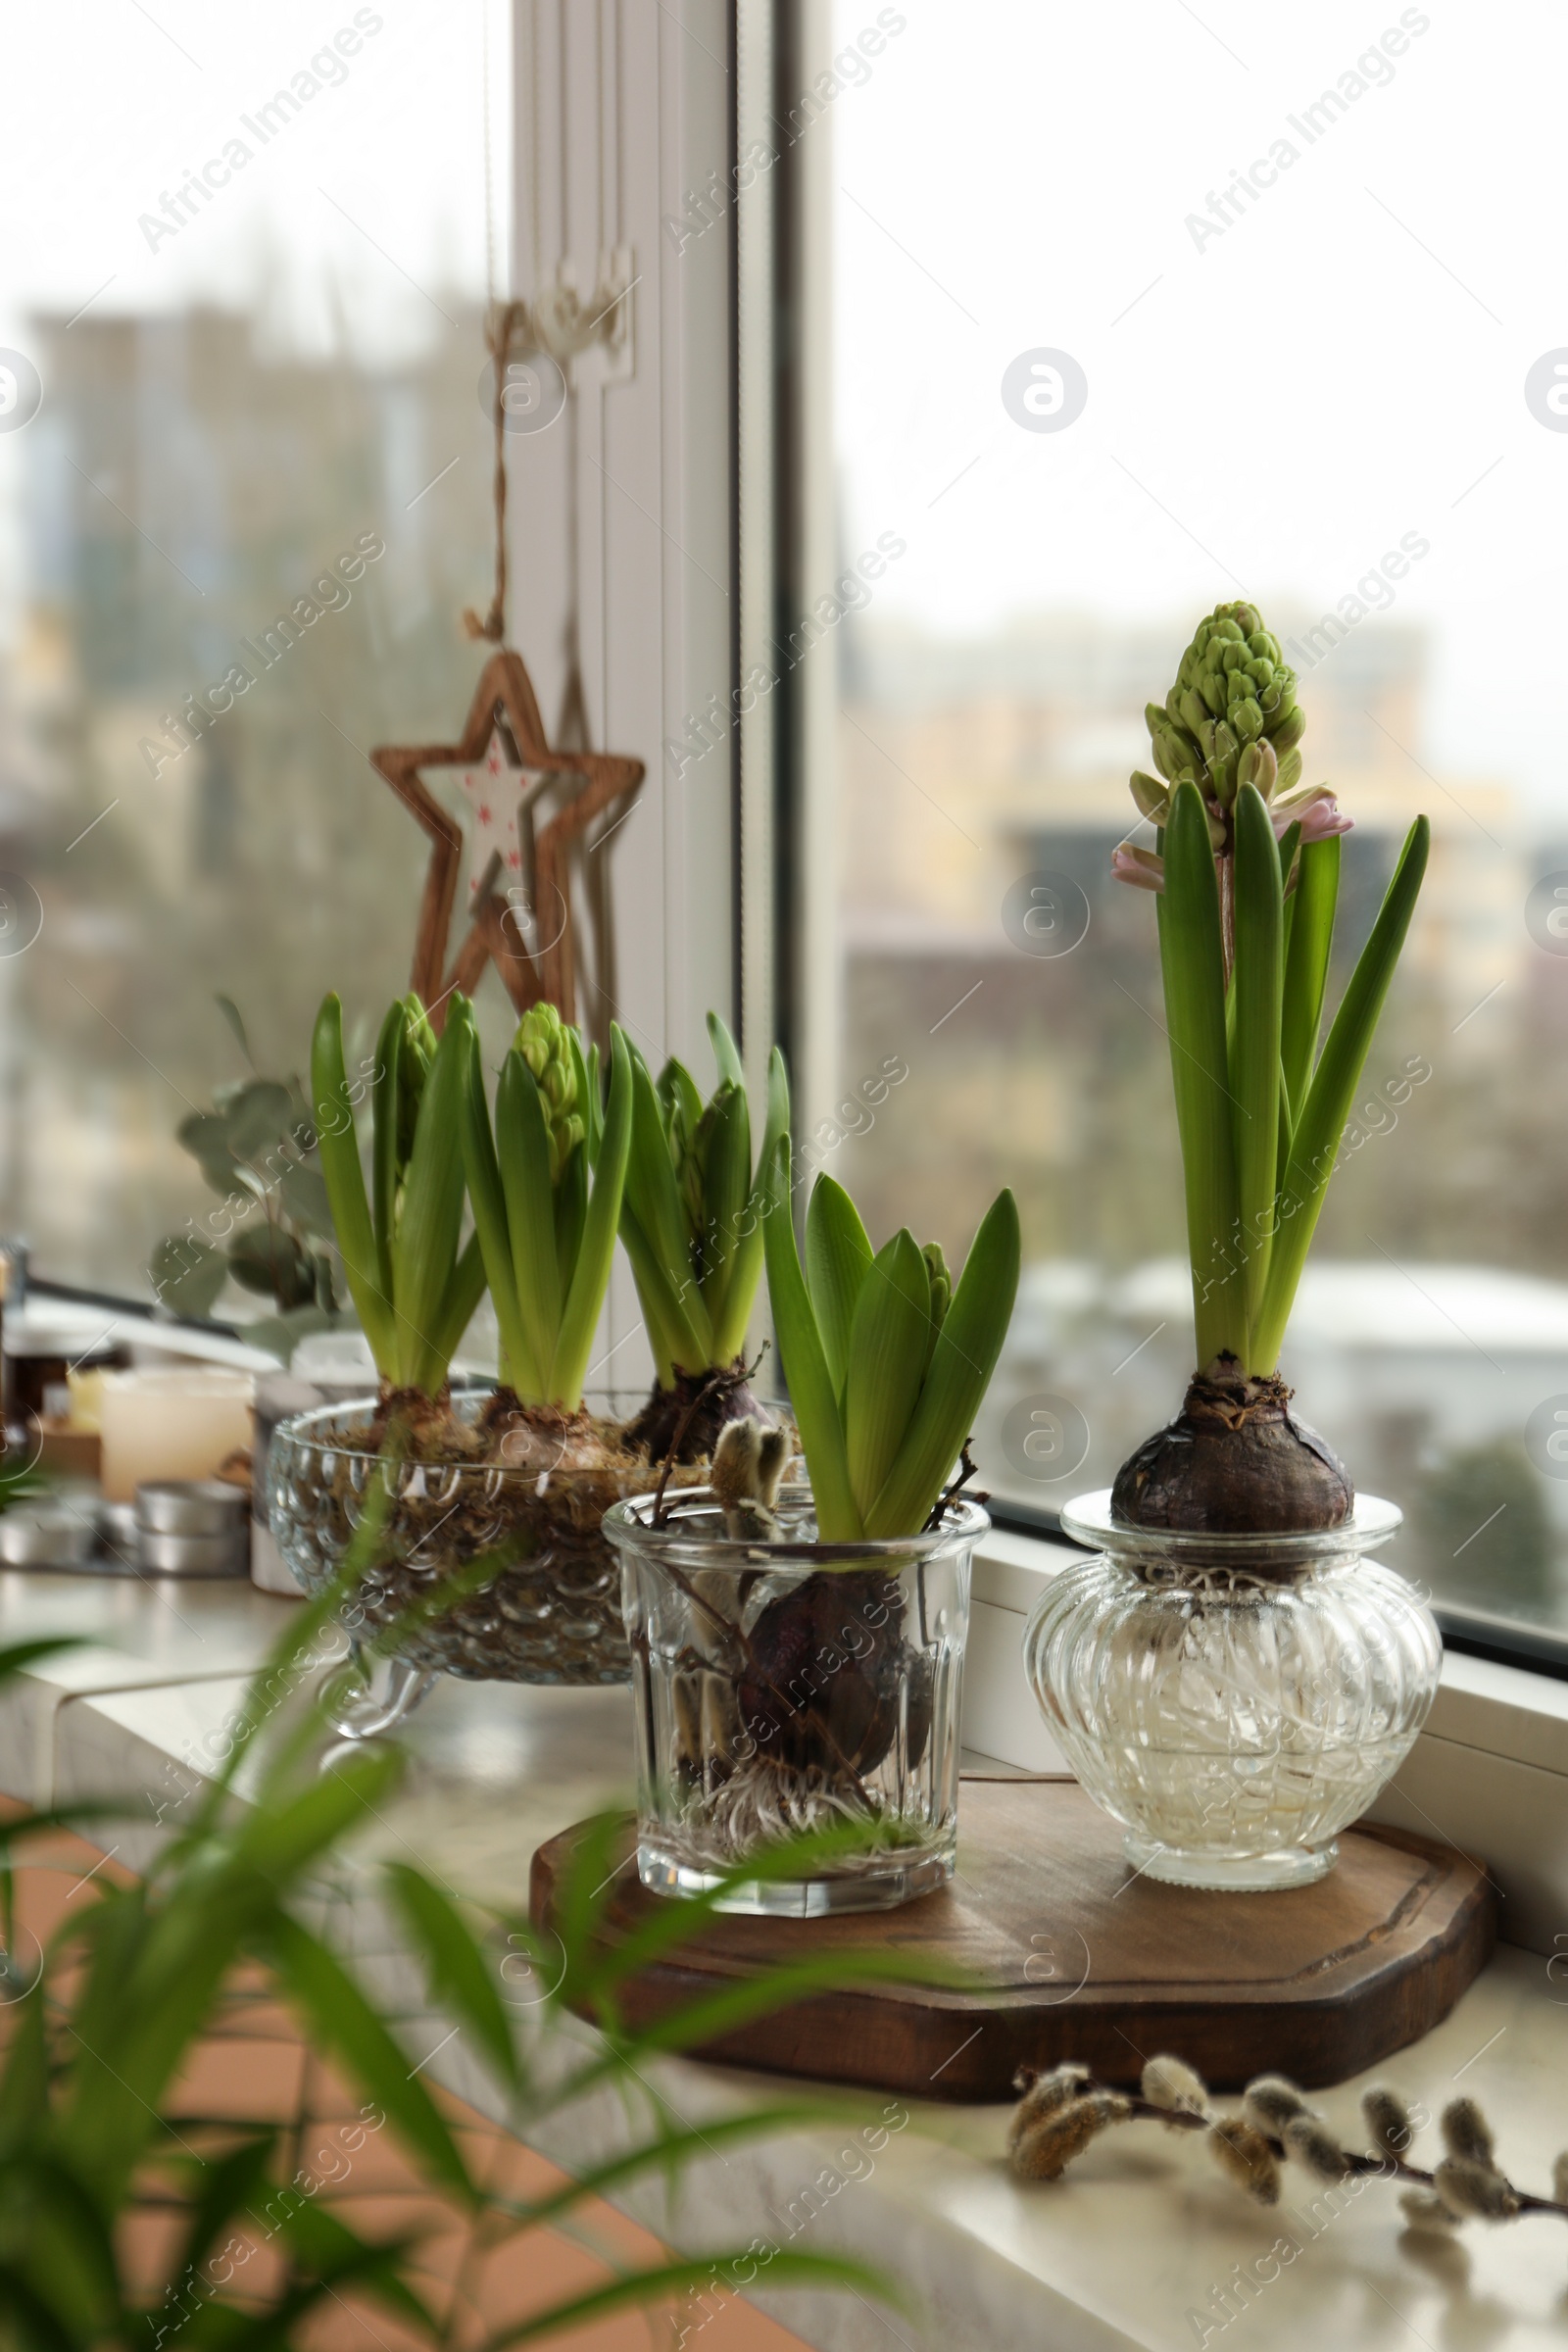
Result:
<instances>
[{"instance_id":1,"label":"round ribbed glass vase under the tallest hyacinth with pink buds","mask_svg":"<svg viewBox=\"0 0 1568 2352\"><path fill-rule=\"evenodd\" d=\"M1305 1536L1124 1526L1110 1491L1063 1510L1093 1557L1037 1602L1025 1672L1138 1872L1265 1889L1333 1870L1436 1693L1432 1611L1368 1557L1399 1524L1378 1496Z\"/></svg>"}]
</instances>

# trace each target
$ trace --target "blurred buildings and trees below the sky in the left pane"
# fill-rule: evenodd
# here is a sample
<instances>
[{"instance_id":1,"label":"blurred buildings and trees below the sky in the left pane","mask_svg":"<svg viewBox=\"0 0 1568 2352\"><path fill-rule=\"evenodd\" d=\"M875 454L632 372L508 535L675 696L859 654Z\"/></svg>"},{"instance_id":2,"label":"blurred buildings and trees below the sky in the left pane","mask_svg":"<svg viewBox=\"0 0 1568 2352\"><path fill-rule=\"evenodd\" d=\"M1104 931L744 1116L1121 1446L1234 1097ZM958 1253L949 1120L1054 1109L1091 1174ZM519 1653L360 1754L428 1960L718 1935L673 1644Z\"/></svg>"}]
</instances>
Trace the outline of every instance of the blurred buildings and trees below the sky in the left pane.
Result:
<instances>
[{"instance_id":1,"label":"blurred buildings and trees below the sky in the left pane","mask_svg":"<svg viewBox=\"0 0 1568 2352\"><path fill-rule=\"evenodd\" d=\"M0 957L0 1181L61 1279L143 1296L212 1207L174 1127L242 1073L216 990L299 1070L336 938L364 1002L407 985L425 849L367 753L463 710L491 564L480 308L447 308L376 367L212 306L31 322L0 847L42 931Z\"/></svg>"}]
</instances>

